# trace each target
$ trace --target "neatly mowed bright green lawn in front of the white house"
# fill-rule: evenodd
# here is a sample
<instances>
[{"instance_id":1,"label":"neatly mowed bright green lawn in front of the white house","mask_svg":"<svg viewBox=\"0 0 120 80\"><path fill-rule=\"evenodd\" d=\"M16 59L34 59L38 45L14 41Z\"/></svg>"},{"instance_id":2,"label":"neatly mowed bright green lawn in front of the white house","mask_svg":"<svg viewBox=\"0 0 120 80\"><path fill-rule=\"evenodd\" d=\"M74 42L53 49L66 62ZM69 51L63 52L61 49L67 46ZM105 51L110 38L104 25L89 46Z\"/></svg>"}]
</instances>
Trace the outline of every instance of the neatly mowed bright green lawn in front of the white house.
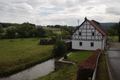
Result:
<instances>
[{"instance_id":1,"label":"neatly mowed bright green lawn in front of the white house","mask_svg":"<svg viewBox=\"0 0 120 80\"><path fill-rule=\"evenodd\" d=\"M70 54L67 59L64 59L66 61L81 61L86 60L88 57L90 57L93 54L94 51L79 51L79 52L73 52Z\"/></svg>"}]
</instances>

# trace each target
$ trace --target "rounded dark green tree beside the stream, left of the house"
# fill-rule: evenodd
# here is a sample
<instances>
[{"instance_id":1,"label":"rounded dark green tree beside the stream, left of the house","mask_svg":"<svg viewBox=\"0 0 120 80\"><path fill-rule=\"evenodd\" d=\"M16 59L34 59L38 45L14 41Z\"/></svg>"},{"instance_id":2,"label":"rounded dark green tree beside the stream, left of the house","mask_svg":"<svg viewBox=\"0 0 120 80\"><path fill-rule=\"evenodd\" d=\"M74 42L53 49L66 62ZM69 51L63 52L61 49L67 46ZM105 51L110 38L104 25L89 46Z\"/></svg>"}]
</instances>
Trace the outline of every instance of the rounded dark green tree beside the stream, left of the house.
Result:
<instances>
[{"instance_id":1,"label":"rounded dark green tree beside the stream, left of the house","mask_svg":"<svg viewBox=\"0 0 120 80\"><path fill-rule=\"evenodd\" d=\"M67 52L67 49L64 42L60 40L56 41L53 47L53 54L55 56L63 56L66 52Z\"/></svg>"}]
</instances>

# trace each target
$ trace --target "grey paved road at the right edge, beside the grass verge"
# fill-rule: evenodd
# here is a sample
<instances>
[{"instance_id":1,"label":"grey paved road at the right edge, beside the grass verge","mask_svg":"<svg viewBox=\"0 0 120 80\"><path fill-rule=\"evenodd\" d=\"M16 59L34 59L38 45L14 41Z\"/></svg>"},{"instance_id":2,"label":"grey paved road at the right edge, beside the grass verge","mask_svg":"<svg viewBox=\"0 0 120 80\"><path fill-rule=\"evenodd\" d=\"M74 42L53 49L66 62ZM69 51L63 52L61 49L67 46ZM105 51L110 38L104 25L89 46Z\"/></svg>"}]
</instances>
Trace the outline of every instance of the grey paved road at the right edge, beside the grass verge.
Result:
<instances>
[{"instance_id":1,"label":"grey paved road at the right edge, beside the grass verge","mask_svg":"<svg viewBox=\"0 0 120 80\"><path fill-rule=\"evenodd\" d=\"M120 43L108 41L110 48L107 50L109 66L114 80L120 80Z\"/></svg>"}]
</instances>

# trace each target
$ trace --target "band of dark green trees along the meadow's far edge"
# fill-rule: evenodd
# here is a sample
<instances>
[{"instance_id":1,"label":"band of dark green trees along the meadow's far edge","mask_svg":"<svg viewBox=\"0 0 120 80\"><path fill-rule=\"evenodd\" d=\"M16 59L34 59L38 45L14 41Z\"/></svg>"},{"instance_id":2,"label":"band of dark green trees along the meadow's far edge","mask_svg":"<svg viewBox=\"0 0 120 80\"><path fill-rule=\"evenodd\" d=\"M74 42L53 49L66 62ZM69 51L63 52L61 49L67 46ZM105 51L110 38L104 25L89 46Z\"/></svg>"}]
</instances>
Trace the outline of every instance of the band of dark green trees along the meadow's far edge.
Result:
<instances>
[{"instance_id":1,"label":"band of dark green trees along the meadow's far edge","mask_svg":"<svg viewBox=\"0 0 120 80\"><path fill-rule=\"evenodd\" d=\"M3 26L0 24L0 38L9 39L9 38L32 38L32 37L63 37L66 38L67 35L70 35L73 30L68 26L60 26L61 34L54 33L53 30L47 29L42 26L35 26L28 22L23 24L13 24L13 28L8 28L3 30Z\"/></svg>"}]
</instances>

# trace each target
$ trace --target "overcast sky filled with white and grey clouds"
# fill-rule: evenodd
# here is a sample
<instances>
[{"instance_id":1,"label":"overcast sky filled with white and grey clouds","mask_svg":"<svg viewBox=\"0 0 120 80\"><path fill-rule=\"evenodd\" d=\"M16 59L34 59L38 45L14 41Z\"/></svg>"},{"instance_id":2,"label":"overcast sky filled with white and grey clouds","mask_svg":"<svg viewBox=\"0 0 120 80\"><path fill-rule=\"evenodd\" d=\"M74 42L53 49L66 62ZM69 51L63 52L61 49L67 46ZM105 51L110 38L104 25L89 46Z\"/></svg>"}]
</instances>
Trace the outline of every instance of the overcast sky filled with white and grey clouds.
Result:
<instances>
[{"instance_id":1,"label":"overcast sky filled with white and grey clouds","mask_svg":"<svg viewBox=\"0 0 120 80\"><path fill-rule=\"evenodd\" d=\"M120 0L0 0L0 22L77 26L85 16L118 22Z\"/></svg>"}]
</instances>

